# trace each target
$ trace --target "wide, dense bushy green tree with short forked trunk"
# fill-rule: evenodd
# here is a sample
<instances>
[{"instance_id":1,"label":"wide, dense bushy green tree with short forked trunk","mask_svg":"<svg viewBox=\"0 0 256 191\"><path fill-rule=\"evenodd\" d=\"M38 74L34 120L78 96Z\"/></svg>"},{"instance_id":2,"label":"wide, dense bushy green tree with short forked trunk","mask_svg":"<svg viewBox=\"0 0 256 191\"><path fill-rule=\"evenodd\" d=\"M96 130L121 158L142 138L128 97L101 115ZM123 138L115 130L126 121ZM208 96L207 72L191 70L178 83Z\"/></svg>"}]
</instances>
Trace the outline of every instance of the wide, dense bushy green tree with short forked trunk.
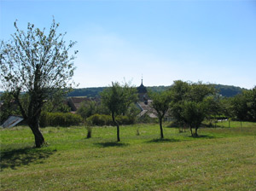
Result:
<instances>
[{"instance_id":1,"label":"wide, dense bushy green tree with short forked trunk","mask_svg":"<svg viewBox=\"0 0 256 191\"><path fill-rule=\"evenodd\" d=\"M215 113L217 104L209 96L216 94L214 88L207 84L187 83L183 81L175 81L171 88L172 92L172 116L180 124L189 124L191 136L193 136L192 128L195 128L195 136L197 130L207 117L207 114Z\"/></svg>"}]
</instances>

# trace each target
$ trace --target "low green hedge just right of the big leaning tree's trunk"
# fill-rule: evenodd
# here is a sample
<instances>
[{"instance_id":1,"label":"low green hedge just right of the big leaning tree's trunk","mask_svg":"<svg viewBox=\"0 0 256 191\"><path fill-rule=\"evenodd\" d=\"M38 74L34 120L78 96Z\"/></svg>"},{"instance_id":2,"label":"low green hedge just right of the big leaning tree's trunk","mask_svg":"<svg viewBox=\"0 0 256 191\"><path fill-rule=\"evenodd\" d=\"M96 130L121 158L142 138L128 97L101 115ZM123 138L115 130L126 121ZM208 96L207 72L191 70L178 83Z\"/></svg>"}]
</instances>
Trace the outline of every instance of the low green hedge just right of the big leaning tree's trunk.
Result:
<instances>
[{"instance_id":1,"label":"low green hedge just right of the big leaning tree's trunk","mask_svg":"<svg viewBox=\"0 0 256 191\"><path fill-rule=\"evenodd\" d=\"M41 127L46 126L72 126L79 125L82 118L73 113L42 113L39 124Z\"/></svg>"}]
</instances>

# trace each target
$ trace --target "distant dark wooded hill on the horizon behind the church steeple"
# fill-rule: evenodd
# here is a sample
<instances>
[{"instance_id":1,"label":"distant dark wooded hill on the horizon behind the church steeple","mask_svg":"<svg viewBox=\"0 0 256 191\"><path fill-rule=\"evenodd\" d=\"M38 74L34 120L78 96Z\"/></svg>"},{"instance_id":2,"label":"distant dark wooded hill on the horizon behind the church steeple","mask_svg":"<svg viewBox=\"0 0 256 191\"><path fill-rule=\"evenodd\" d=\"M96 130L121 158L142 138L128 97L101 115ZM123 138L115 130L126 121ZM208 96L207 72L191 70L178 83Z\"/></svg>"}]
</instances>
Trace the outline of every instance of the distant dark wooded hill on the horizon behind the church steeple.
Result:
<instances>
[{"instance_id":1,"label":"distant dark wooded hill on the horizon behind the church steeple","mask_svg":"<svg viewBox=\"0 0 256 191\"><path fill-rule=\"evenodd\" d=\"M236 96L237 94L241 94L242 90L240 87L232 86L232 85L222 85L222 84L209 84L215 86L218 90L218 93L221 96L225 97L232 97ZM163 91L169 89L171 86L151 86L146 87L148 90L152 91ZM107 87L98 87L98 88L81 88L81 89L74 89L70 92L67 96L86 96L86 97L99 97L102 90L106 89Z\"/></svg>"}]
</instances>

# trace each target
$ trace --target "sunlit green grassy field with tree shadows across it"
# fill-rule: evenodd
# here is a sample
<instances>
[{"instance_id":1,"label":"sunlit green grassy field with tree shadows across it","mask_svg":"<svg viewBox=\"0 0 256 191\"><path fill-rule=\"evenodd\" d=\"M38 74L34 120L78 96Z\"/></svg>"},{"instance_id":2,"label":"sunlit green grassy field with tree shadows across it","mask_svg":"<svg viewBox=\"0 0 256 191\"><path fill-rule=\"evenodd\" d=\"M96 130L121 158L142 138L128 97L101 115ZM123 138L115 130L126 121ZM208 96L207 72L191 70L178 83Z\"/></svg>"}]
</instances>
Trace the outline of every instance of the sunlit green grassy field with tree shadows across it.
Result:
<instances>
[{"instance_id":1,"label":"sunlit green grassy field with tree shadows across it","mask_svg":"<svg viewBox=\"0 0 256 191\"><path fill-rule=\"evenodd\" d=\"M1 190L256 190L256 124L189 130L157 124L42 129L32 148L27 127L0 130ZM139 136L137 133L139 132Z\"/></svg>"}]
</instances>

